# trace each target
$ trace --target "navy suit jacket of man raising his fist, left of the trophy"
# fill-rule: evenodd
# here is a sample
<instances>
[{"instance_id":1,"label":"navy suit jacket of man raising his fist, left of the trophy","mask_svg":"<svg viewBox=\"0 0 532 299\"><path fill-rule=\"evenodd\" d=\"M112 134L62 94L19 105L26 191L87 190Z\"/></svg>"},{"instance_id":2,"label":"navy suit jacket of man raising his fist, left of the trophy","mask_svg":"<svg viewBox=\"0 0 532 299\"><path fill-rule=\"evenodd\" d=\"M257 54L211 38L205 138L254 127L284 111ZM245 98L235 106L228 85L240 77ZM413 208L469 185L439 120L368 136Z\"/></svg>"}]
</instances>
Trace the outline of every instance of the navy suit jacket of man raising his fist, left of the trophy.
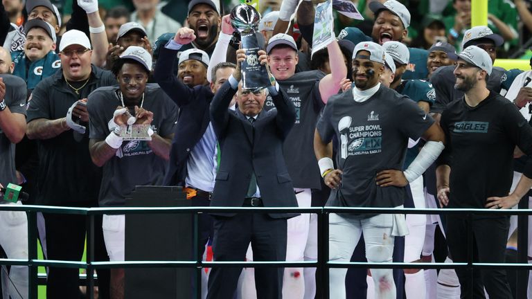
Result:
<instances>
[{"instance_id":1,"label":"navy suit jacket of man raising his fist, left of the trophy","mask_svg":"<svg viewBox=\"0 0 532 299\"><path fill-rule=\"evenodd\" d=\"M170 163L168 163L163 184L184 186L186 161L190 151L199 142L209 126L211 120L209 105L211 105L214 94L209 87L204 85L190 88L177 80L172 73L172 65L177 52L164 46L161 48L153 77L179 107L177 126L170 149Z\"/></svg>"}]
</instances>

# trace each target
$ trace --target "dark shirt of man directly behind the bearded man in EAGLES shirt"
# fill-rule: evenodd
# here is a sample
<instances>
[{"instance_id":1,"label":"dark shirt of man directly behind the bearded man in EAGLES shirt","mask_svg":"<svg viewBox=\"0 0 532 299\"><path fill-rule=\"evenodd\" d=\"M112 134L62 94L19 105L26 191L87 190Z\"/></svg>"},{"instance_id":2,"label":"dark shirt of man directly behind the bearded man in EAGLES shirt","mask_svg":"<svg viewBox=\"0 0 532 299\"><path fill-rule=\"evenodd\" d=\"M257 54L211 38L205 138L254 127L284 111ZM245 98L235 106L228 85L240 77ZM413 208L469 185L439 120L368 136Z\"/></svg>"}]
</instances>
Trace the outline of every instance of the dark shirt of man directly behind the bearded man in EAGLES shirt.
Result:
<instances>
[{"instance_id":1,"label":"dark shirt of man directly behind the bearded man in EAGLES shirt","mask_svg":"<svg viewBox=\"0 0 532 299\"><path fill-rule=\"evenodd\" d=\"M441 66L430 77L430 82L436 90L436 102L432 105L431 112L441 113L447 104L463 97L463 92L454 88L456 83L455 68L455 66ZM488 89L499 93L504 73L506 73L504 69L494 67L488 78Z\"/></svg>"}]
</instances>

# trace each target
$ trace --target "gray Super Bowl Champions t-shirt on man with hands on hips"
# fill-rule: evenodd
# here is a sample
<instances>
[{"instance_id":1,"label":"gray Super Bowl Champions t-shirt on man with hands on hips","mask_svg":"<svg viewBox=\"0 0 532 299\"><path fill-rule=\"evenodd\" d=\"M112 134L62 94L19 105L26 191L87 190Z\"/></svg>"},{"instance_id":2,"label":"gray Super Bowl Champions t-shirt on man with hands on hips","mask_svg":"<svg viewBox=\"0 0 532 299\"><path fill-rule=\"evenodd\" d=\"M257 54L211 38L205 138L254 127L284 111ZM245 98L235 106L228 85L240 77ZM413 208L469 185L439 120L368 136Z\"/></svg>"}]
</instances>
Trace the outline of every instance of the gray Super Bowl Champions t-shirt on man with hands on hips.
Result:
<instances>
[{"instance_id":1,"label":"gray Super Bowl Champions t-shirt on man with hands on hips","mask_svg":"<svg viewBox=\"0 0 532 299\"><path fill-rule=\"evenodd\" d=\"M382 85L364 102L356 102L351 91L332 96L317 130L326 143L337 136L337 168L343 174L342 184L330 193L326 205L402 205L405 187L379 187L375 175L382 170L402 170L408 138L416 140L432 123L414 101Z\"/></svg>"}]
</instances>

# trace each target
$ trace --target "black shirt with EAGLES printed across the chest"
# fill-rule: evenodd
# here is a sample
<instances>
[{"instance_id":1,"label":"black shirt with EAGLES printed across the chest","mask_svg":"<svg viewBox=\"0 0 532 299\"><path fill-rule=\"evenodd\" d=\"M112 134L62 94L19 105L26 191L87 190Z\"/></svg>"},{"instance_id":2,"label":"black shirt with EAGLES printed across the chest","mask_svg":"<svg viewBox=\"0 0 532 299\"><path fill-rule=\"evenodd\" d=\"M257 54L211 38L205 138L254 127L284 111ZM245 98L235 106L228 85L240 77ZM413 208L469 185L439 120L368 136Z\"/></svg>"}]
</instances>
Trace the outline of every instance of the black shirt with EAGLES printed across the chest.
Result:
<instances>
[{"instance_id":1,"label":"black shirt with EAGLES printed across the chest","mask_svg":"<svg viewBox=\"0 0 532 299\"><path fill-rule=\"evenodd\" d=\"M515 146L532 155L532 127L512 102L493 91L476 107L464 98L452 102L443 111L441 128L447 142L438 165L451 167L449 208L484 208L488 197L507 196ZM529 158L528 177L531 165Z\"/></svg>"}]
</instances>

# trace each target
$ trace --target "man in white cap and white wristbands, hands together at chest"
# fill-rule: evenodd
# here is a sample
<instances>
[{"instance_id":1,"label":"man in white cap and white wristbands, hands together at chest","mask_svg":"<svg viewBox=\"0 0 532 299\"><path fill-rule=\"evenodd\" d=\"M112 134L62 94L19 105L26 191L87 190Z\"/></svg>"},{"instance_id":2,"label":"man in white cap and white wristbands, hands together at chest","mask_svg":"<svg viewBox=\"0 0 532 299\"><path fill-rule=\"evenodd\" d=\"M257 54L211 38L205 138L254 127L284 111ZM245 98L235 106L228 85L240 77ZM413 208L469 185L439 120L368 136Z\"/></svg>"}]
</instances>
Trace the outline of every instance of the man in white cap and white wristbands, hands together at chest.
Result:
<instances>
[{"instance_id":1,"label":"man in white cap and white wristbands, hands together at chest","mask_svg":"<svg viewBox=\"0 0 532 299\"><path fill-rule=\"evenodd\" d=\"M124 206L136 185L162 185L177 120L177 106L157 84L148 84L152 57L139 46L125 49L113 67L118 87L103 87L87 100L90 117L89 152L103 167L99 194L102 207ZM151 141L124 141L130 124L150 125ZM146 170L132 172L132 165ZM114 229L118 228L118 230ZM125 215L103 215L105 247L111 261L125 259ZM111 271L112 298L123 298L123 269Z\"/></svg>"}]
</instances>

